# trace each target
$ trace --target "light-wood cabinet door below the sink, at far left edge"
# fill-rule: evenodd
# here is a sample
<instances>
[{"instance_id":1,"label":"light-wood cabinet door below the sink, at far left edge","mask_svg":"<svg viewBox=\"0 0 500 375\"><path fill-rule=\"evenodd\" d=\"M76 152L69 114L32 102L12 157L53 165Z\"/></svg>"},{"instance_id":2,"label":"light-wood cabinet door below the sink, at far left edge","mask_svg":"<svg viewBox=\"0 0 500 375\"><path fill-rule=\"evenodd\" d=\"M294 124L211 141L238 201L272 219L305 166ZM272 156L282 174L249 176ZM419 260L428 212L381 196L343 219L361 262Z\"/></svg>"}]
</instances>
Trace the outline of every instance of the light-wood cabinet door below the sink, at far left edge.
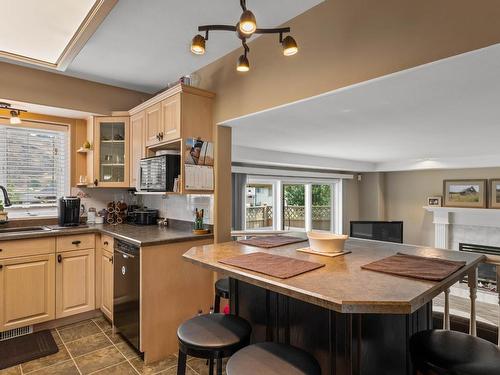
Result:
<instances>
[{"instance_id":1,"label":"light-wood cabinet door below the sink, at far left edge","mask_svg":"<svg viewBox=\"0 0 500 375\"><path fill-rule=\"evenodd\" d=\"M0 261L0 331L55 317L55 255Z\"/></svg>"}]
</instances>

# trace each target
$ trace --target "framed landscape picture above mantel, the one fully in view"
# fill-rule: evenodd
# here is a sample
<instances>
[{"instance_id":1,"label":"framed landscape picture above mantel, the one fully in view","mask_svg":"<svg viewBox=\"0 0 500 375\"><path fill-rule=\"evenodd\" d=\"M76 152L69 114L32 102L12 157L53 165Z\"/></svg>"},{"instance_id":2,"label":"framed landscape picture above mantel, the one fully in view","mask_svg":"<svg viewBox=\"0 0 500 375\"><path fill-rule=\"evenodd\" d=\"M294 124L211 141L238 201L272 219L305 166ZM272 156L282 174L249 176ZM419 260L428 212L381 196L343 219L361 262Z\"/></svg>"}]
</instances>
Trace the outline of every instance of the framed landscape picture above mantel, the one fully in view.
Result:
<instances>
[{"instance_id":1,"label":"framed landscape picture above mantel, the one fully in view","mask_svg":"<svg viewBox=\"0 0 500 375\"><path fill-rule=\"evenodd\" d=\"M486 208L488 180L444 180L445 207Z\"/></svg>"}]
</instances>

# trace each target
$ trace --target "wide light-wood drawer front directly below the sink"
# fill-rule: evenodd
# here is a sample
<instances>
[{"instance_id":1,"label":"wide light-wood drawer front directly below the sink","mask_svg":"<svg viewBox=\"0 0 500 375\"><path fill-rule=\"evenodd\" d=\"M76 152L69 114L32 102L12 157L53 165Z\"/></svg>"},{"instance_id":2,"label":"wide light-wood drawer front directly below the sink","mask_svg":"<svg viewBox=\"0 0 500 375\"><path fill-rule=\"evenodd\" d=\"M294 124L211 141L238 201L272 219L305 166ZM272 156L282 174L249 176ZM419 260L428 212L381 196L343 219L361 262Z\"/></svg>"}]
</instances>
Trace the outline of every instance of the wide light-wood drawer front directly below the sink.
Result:
<instances>
[{"instance_id":1,"label":"wide light-wood drawer front directly below the sink","mask_svg":"<svg viewBox=\"0 0 500 375\"><path fill-rule=\"evenodd\" d=\"M53 253L55 237L0 241L0 259Z\"/></svg>"}]
</instances>

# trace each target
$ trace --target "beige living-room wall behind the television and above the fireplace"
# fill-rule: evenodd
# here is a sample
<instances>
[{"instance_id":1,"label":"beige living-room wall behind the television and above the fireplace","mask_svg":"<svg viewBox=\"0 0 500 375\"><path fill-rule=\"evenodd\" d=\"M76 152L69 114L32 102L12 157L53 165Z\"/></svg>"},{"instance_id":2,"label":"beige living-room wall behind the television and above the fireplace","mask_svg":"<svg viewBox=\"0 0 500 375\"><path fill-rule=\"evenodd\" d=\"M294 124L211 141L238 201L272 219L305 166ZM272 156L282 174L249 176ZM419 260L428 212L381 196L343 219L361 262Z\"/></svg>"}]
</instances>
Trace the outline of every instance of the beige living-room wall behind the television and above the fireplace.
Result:
<instances>
[{"instance_id":1,"label":"beige living-room wall behind the television and above the fireplace","mask_svg":"<svg viewBox=\"0 0 500 375\"><path fill-rule=\"evenodd\" d=\"M377 189L380 188L379 180L373 176L367 177L367 175L371 174L363 174L363 182L359 189L359 218L361 220L382 220L383 217L376 218L377 204L367 204L369 199L379 196L376 193ZM426 204L426 198L442 195L443 180L445 179L500 178L500 168L387 172L380 175L383 175L384 180L385 219L403 220L404 242L433 246L432 214L422 208ZM374 191L370 191L371 188Z\"/></svg>"}]
</instances>

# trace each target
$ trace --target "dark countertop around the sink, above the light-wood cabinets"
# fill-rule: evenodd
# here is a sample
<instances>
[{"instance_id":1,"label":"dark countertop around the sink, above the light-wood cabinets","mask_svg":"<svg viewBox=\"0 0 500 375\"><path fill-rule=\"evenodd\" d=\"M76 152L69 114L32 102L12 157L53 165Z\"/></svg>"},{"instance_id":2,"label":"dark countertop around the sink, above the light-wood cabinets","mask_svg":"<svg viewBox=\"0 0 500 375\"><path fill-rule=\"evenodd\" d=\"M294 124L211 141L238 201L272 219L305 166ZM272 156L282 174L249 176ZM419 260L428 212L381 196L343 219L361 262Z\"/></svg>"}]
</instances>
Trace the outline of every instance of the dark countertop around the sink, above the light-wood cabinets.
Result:
<instances>
[{"instance_id":1,"label":"dark countertop around the sink, above the light-wood cabinets","mask_svg":"<svg viewBox=\"0 0 500 375\"><path fill-rule=\"evenodd\" d=\"M24 238L39 238L65 236L71 234L103 233L119 240L124 240L138 246L161 245L174 242L184 242L197 239L213 238L213 233L196 235L191 232L191 224L176 224L168 227L158 225L131 224L89 224L77 228L60 228L48 225L51 230L28 232L0 232L0 241L18 240Z\"/></svg>"}]
</instances>

